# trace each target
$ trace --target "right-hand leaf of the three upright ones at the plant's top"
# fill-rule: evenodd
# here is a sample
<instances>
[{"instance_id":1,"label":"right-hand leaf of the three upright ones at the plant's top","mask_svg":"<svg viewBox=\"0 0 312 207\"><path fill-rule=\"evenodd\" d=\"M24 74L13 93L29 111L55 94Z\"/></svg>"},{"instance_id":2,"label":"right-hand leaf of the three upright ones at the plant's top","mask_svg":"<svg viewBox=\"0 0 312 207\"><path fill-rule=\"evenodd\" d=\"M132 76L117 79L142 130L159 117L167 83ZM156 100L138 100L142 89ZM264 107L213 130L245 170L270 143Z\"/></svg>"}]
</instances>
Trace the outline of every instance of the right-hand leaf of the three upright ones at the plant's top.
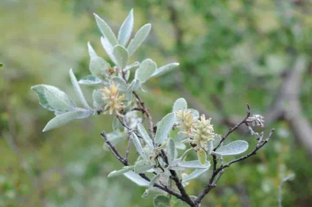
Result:
<instances>
[{"instance_id":1,"label":"right-hand leaf of the three upright ones at the plant's top","mask_svg":"<svg viewBox=\"0 0 312 207\"><path fill-rule=\"evenodd\" d=\"M148 36L149 31L151 30L151 24L146 24L139 29L139 31L135 34L134 38L130 41L128 45L129 56L131 56L142 44L145 38Z\"/></svg>"}]
</instances>

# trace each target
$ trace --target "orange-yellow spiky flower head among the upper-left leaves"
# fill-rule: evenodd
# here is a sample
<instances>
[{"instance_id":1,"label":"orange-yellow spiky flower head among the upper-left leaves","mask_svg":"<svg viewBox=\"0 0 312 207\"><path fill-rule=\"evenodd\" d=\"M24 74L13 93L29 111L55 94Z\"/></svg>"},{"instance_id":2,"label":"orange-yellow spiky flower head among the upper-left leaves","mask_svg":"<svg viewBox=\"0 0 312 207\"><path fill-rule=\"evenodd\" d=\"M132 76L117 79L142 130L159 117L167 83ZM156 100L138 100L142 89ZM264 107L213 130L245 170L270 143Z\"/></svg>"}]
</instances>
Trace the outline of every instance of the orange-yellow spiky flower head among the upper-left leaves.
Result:
<instances>
[{"instance_id":1,"label":"orange-yellow spiky flower head among the upper-left leaves","mask_svg":"<svg viewBox=\"0 0 312 207\"><path fill-rule=\"evenodd\" d=\"M103 100L106 102L106 105L104 107L104 113L106 113L109 109L110 114L112 114L114 111L115 113L121 115L119 111L123 109L123 104L121 101L124 99L124 94L119 96L119 84L115 86L114 81L112 81L112 84L110 85L110 88L108 89L105 87L104 89L100 89L102 91Z\"/></svg>"}]
</instances>

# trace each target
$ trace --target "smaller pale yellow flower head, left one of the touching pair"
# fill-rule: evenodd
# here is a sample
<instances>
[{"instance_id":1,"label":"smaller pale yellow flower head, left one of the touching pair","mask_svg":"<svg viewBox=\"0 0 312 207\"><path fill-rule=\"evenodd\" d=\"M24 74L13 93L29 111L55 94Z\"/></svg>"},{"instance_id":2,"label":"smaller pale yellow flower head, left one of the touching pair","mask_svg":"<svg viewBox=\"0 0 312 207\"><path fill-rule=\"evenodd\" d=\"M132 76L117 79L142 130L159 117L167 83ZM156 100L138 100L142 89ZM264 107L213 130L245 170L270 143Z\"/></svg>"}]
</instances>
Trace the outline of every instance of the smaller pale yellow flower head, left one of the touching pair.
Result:
<instances>
[{"instance_id":1,"label":"smaller pale yellow flower head, left one of the touching pair","mask_svg":"<svg viewBox=\"0 0 312 207\"><path fill-rule=\"evenodd\" d=\"M184 108L176 112L178 118L178 128L183 131L180 134L189 135L193 128L194 116L192 112L186 111Z\"/></svg>"}]
</instances>

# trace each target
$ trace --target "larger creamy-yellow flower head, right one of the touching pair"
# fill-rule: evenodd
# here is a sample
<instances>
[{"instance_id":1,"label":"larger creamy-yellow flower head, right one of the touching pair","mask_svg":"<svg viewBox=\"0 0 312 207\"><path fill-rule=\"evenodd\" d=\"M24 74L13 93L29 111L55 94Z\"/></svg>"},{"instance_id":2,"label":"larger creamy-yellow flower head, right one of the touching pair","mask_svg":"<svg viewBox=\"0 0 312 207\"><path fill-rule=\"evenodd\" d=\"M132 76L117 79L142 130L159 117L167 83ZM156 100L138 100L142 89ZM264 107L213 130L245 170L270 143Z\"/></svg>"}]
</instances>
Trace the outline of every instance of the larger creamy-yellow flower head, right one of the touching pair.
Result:
<instances>
[{"instance_id":1,"label":"larger creamy-yellow flower head, right one of the touching pair","mask_svg":"<svg viewBox=\"0 0 312 207\"><path fill-rule=\"evenodd\" d=\"M194 122L189 137L182 142L190 143L194 150L208 150L208 142L214 140L213 125L210 123L211 118L206 119L203 114L199 120Z\"/></svg>"}]
</instances>

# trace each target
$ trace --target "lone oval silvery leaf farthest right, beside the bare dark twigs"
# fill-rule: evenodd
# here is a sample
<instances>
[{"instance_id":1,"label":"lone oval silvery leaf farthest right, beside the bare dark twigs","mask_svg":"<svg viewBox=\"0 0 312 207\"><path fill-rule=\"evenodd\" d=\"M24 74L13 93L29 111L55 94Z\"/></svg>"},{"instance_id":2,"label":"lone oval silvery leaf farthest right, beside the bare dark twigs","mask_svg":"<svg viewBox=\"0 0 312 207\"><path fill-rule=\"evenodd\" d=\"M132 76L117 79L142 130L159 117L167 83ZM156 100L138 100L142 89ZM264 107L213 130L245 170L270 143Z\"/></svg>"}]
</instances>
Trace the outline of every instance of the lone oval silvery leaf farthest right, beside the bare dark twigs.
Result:
<instances>
[{"instance_id":1,"label":"lone oval silvery leaf farthest right, beside the bare dark twigs","mask_svg":"<svg viewBox=\"0 0 312 207\"><path fill-rule=\"evenodd\" d=\"M222 156L237 155L237 154L245 152L247 149L248 149L248 142L244 140L237 140L237 141L231 142L228 145L218 148L216 152Z\"/></svg>"}]
</instances>

